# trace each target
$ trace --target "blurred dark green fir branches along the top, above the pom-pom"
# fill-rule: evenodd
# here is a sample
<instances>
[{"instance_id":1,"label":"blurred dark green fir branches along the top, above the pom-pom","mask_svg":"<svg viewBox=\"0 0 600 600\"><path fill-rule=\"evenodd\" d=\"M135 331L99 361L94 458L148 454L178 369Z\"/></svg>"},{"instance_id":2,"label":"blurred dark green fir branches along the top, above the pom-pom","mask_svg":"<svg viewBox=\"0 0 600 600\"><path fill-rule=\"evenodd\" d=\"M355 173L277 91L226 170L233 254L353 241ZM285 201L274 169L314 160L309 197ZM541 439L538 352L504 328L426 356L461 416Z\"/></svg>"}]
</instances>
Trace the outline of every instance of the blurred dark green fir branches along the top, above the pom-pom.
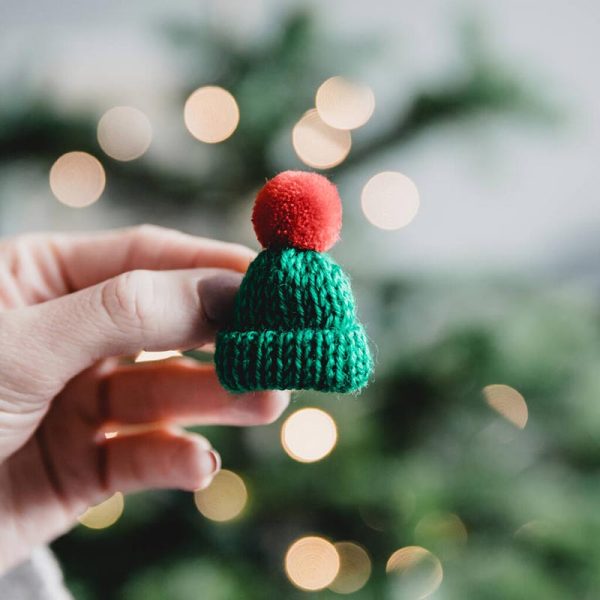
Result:
<instances>
[{"instance_id":1,"label":"blurred dark green fir branches along the top, above the pom-pom","mask_svg":"<svg viewBox=\"0 0 600 600\"><path fill-rule=\"evenodd\" d=\"M192 61L202 56L214 62L202 79L194 74L194 64L190 66L181 102L199 85L220 85L235 96L243 118L235 136L211 148L215 157L208 172L198 168L196 173L182 173L144 159L132 163L106 161L111 198L123 204L143 202L146 207L155 206L165 212L191 205L204 213L212 210L221 219L227 217L226 209L248 202L248 194L278 170L278 140L314 105L319 84L339 71L340 65L347 66L351 73L365 54L376 52L372 43L361 44L360 40L328 41L307 13L293 14L273 39L251 47L240 47L228 35L213 29L178 26L172 27L169 34ZM385 131L363 137L355 144L348 159L330 171L333 177L449 120L481 114L532 117L544 113L537 97L488 57L477 30L467 28L463 37L465 67L456 74L455 81L415 90L408 104L399 102L397 114L389 115ZM399 77L399 93L401 85ZM58 156L73 149L99 152L96 115L64 113L41 98L32 100L19 94L13 98L0 105L0 165L26 160L49 169ZM198 145L198 165L203 162L201 150Z\"/></svg>"}]
</instances>

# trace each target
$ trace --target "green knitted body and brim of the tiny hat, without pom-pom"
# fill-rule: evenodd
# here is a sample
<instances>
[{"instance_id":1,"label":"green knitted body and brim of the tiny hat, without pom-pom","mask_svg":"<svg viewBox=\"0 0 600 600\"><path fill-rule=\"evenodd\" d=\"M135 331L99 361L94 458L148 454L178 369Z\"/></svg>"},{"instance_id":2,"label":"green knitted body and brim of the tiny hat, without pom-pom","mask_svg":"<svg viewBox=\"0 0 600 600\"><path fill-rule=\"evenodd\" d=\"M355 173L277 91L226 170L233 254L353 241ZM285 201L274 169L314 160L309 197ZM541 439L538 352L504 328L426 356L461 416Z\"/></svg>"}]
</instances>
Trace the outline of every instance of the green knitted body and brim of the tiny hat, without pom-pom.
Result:
<instances>
[{"instance_id":1,"label":"green knitted body and brim of the tiny hat, without pom-pom","mask_svg":"<svg viewBox=\"0 0 600 600\"><path fill-rule=\"evenodd\" d=\"M215 363L232 392L364 387L373 360L348 277L327 254L263 250L217 335Z\"/></svg>"}]
</instances>

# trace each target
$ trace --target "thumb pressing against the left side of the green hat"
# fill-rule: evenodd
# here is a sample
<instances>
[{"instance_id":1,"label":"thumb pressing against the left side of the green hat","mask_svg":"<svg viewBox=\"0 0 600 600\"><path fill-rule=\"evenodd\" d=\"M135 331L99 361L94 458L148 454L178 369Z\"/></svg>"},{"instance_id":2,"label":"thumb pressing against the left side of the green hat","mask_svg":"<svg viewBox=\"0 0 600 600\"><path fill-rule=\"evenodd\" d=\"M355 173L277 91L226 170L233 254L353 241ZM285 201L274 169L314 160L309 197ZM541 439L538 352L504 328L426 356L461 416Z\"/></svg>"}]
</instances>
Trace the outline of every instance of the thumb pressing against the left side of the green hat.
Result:
<instances>
[{"instance_id":1,"label":"thumb pressing against the left side of the green hat","mask_svg":"<svg viewBox=\"0 0 600 600\"><path fill-rule=\"evenodd\" d=\"M131 271L15 311L13 324L30 345L30 365L65 383L101 358L211 341L241 279L221 269Z\"/></svg>"}]
</instances>

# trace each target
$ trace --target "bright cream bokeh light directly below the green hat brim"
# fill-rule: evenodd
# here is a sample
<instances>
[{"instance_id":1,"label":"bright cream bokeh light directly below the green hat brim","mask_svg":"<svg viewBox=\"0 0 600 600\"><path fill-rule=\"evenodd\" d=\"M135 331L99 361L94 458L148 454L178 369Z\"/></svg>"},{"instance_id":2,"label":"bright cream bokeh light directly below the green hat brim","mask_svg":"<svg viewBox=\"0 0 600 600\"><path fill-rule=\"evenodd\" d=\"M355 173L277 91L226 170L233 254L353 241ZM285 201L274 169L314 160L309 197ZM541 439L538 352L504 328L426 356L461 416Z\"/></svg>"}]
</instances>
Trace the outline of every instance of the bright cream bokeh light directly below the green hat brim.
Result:
<instances>
[{"instance_id":1,"label":"bright cream bokeh light directly below the green hat brim","mask_svg":"<svg viewBox=\"0 0 600 600\"><path fill-rule=\"evenodd\" d=\"M298 462L325 458L336 442L335 421L319 408L302 408L291 414L281 427L283 449Z\"/></svg>"}]
</instances>

